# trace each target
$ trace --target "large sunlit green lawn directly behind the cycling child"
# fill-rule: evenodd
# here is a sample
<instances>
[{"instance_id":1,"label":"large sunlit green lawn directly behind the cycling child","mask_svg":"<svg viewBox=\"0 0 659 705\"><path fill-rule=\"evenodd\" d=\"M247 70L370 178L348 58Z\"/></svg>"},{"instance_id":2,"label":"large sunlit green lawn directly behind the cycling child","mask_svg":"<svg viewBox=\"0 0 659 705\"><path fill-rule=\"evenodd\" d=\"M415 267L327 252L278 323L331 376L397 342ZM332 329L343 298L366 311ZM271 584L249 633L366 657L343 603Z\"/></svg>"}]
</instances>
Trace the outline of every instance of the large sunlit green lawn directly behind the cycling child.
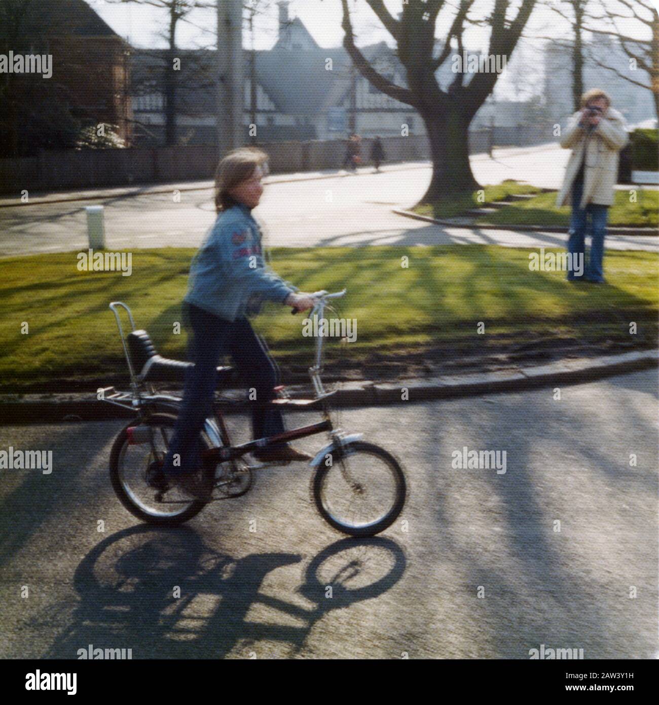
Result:
<instances>
[{"instance_id":1,"label":"large sunlit green lawn directly behind the cycling child","mask_svg":"<svg viewBox=\"0 0 659 705\"><path fill-rule=\"evenodd\" d=\"M658 255L610 250L608 285L575 286L563 272L529 271L529 252L492 245L277 248L272 262L301 290L348 289L338 307L341 317L357 320L351 359L458 343L475 335L479 321L484 345L488 333L524 343L529 331L629 340L629 321L639 326L634 342L655 339ZM45 391L58 379L111 384L123 375L112 300L131 307L161 354L184 359L184 333L173 331L194 250L137 250L132 276L77 271L76 254L0 260L0 391ZM288 307L268 305L256 326L276 357L307 367L313 338L301 335L302 321ZM341 354L335 340L327 349L330 358Z\"/></svg>"}]
</instances>

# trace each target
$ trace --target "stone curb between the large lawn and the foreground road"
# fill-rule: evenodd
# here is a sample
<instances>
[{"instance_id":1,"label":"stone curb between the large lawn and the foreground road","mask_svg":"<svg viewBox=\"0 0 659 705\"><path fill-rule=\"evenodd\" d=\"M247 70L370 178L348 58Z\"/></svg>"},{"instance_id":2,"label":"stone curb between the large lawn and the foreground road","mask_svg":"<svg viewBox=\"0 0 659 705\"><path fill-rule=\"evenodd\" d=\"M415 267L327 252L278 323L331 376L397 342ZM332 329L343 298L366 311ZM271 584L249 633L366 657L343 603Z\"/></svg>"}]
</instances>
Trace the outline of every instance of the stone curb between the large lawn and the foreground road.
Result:
<instances>
[{"instance_id":1,"label":"stone curb between the large lawn and the foreground road","mask_svg":"<svg viewBox=\"0 0 659 705\"><path fill-rule=\"evenodd\" d=\"M616 374L657 367L658 364L659 350L644 350L639 353L561 360L510 371L403 379L396 383L346 382L334 397L334 405L360 407L401 403L403 388L408 391L408 402L524 391L551 384L583 384ZM294 399L308 396L308 390L301 386L291 386L288 391ZM34 395L28 399L16 398L15 395L0 396L0 424L87 422L133 416L129 410L94 399L92 392L76 397L65 394L45 399L43 395Z\"/></svg>"}]
</instances>

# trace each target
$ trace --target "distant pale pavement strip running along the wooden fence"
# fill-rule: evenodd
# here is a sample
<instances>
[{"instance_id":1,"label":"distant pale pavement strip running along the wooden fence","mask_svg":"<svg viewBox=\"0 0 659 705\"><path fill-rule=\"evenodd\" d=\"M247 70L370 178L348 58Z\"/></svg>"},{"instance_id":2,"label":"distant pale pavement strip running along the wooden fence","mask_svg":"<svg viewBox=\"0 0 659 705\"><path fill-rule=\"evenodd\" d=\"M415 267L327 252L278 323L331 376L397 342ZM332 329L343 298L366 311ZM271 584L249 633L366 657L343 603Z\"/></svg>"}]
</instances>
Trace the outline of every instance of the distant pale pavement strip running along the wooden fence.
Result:
<instances>
[{"instance_id":1,"label":"distant pale pavement strip running along the wooden fence","mask_svg":"<svg viewBox=\"0 0 659 705\"><path fill-rule=\"evenodd\" d=\"M548 143L545 145L532 145L529 147L502 147L494 152L495 159L505 157L520 157L524 154L534 154L536 152L545 152L551 149L559 149L558 145ZM489 160L488 154L472 154L471 161ZM410 169L430 168L430 162L424 161L403 161L396 164L385 164L380 171L408 171ZM358 176L368 175L373 172L372 166L358 168ZM287 183L291 181L306 181L313 179L337 178L339 176L347 176L348 172L344 169L324 169L322 171L301 171L294 173L271 174L265 180L265 183ZM179 191L199 191L210 190L215 185L213 179L204 179L197 181L182 181L173 183L156 183L156 184L139 184L132 186L116 186L108 188L96 189L72 189L69 191L57 192L35 192L30 196L27 203L20 203L20 198L17 197L2 197L0 198L0 208L16 207L16 206L31 206L44 203L60 203L66 201L87 201L87 200L102 200L106 198L122 198L131 196L148 195L151 193L171 193L174 190Z\"/></svg>"}]
</instances>

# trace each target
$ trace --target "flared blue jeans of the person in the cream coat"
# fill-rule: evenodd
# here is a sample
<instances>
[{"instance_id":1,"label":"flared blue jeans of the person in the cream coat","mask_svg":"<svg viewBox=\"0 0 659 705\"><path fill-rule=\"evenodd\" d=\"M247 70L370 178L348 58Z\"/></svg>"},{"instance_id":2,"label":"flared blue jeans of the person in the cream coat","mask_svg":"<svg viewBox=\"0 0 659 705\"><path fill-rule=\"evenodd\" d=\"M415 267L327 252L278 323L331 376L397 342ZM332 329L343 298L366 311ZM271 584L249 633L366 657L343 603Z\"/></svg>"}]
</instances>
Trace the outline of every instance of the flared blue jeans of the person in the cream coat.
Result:
<instances>
[{"instance_id":1,"label":"flared blue jeans of the person in the cream coat","mask_svg":"<svg viewBox=\"0 0 659 705\"><path fill-rule=\"evenodd\" d=\"M606 219L608 218L608 206L601 206L596 203L586 204L585 208L579 208L582 193L584 192L584 182L575 180L572 185L572 216L570 217L570 231L567 239L567 252L570 252L572 263L576 262L575 257L581 255L584 262L584 272L581 276L575 275L574 271L567 272L567 281L580 281L583 278L590 281L604 281L604 271L602 260L604 257L604 236L606 234ZM585 257L585 235L588 226L588 216L591 221L591 249L586 261Z\"/></svg>"}]
</instances>

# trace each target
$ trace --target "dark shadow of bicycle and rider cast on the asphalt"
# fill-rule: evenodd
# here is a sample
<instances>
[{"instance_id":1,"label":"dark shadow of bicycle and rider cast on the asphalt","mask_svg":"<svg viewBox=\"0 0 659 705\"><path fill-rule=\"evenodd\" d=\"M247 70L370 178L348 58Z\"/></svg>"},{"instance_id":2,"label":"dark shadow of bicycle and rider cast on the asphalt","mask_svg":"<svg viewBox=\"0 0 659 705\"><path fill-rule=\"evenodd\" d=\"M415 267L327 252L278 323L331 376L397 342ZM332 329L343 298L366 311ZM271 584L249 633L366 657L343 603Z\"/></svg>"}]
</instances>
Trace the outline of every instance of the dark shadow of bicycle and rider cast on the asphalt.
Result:
<instances>
[{"instance_id":1,"label":"dark shadow of bicycle and rider cast on the asphalt","mask_svg":"<svg viewBox=\"0 0 659 705\"><path fill-rule=\"evenodd\" d=\"M379 565L377 580L364 584L364 566L377 563L377 555L388 570L383 574ZM270 578L270 594L263 591L272 571L302 560L297 553L232 558L206 546L189 527L125 529L78 565L80 601L43 658L75 659L89 644L132 649L132 658L293 656L323 616L383 594L406 568L391 539L341 539L310 560L290 597L272 596ZM267 622L253 617L261 611Z\"/></svg>"}]
</instances>

